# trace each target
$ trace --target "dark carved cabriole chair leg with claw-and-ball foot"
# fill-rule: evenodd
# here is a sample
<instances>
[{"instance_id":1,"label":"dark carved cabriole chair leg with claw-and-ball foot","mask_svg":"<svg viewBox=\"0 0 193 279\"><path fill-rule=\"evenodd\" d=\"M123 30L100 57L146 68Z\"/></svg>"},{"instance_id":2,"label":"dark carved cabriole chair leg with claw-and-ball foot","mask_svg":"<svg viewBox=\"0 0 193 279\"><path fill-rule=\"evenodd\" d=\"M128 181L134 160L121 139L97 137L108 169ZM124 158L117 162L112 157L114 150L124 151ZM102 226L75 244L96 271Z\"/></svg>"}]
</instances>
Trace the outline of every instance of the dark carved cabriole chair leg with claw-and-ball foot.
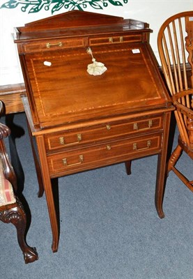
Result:
<instances>
[{"instance_id":1,"label":"dark carved cabriole chair leg with claw-and-ball foot","mask_svg":"<svg viewBox=\"0 0 193 279\"><path fill-rule=\"evenodd\" d=\"M24 261L26 264L34 262L38 259L36 248L32 248L26 244L26 214L24 212L22 203L19 199L15 204L0 207L0 220L3 223L12 223L17 229L17 240L20 248L24 254Z\"/></svg>"}]
</instances>

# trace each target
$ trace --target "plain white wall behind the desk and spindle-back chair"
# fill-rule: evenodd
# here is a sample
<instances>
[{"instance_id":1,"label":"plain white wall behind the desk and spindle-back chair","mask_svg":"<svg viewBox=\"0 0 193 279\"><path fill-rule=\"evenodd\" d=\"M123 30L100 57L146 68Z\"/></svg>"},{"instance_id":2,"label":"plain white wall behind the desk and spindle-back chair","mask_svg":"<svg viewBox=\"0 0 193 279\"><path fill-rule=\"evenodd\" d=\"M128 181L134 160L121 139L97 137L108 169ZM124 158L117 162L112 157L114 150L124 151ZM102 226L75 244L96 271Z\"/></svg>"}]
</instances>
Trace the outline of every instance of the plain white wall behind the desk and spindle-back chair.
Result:
<instances>
[{"instance_id":1,"label":"plain white wall behind the desk and spindle-back chair","mask_svg":"<svg viewBox=\"0 0 193 279\"><path fill-rule=\"evenodd\" d=\"M8 1L8 0L7 0ZM1 0L1 4L6 0ZM86 11L117 15L148 22L153 33L150 35L150 44L155 56L157 53L157 32L167 17L185 10L193 10L193 0L128 0L124 6L108 5L103 10L86 8ZM61 9L60 13L67 10ZM57 13L54 13L56 15ZM13 27L21 27L27 22L40 20L51 16L50 10L40 10L39 13L23 13L21 7L0 9L0 86L23 82L20 61L17 56L16 45L13 43L11 33Z\"/></svg>"}]
</instances>

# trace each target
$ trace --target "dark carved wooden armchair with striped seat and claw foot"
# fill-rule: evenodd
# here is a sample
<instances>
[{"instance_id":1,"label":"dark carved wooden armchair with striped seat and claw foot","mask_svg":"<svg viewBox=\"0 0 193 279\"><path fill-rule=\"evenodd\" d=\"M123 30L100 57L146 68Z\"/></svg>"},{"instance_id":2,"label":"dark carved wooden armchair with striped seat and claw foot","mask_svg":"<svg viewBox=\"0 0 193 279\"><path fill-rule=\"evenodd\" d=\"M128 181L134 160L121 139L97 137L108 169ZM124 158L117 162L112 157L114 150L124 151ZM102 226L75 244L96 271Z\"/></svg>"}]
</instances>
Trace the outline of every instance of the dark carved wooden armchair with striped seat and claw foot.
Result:
<instances>
[{"instance_id":1,"label":"dark carved wooden armchair with striped seat and claw foot","mask_svg":"<svg viewBox=\"0 0 193 279\"><path fill-rule=\"evenodd\" d=\"M3 105L0 101L0 112ZM3 142L5 137L10 135L10 129L0 123L0 220L3 223L12 223L17 229L17 241L24 255L26 264L34 262L38 259L36 248L31 248L26 244L26 213L22 202L17 197L17 179L6 146ZM6 243L5 243L6 245Z\"/></svg>"}]
</instances>

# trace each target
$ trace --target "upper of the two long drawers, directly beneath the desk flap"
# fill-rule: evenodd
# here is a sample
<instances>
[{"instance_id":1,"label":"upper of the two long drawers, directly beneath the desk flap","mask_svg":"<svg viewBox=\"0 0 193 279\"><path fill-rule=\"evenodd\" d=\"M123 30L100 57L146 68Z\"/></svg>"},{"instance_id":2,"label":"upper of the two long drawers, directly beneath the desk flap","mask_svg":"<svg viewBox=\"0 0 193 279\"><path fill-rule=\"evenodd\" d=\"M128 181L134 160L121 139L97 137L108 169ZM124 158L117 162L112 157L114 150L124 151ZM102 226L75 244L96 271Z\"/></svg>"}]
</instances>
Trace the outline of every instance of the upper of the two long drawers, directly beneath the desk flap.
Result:
<instances>
[{"instance_id":1,"label":"upper of the two long drawers, directly beneath the desk flap","mask_svg":"<svg viewBox=\"0 0 193 279\"><path fill-rule=\"evenodd\" d=\"M45 146L47 152L56 149L68 149L73 146L77 148L82 144L105 142L109 139L114 140L116 137L125 137L125 135L151 133L155 130L162 130L162 126L162 115L107 122L98 126L45 135Z\"/></svg>"}]
</instances>

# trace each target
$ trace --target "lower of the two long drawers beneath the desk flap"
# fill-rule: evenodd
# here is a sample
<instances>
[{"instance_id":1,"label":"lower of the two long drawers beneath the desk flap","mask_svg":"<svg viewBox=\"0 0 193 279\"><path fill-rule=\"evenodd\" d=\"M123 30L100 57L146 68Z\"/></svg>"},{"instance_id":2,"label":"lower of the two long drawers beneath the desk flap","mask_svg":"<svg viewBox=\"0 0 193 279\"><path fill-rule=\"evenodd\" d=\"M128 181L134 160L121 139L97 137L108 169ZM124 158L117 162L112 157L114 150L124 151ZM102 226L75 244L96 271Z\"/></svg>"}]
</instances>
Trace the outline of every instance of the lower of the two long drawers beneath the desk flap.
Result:
<instances>
[{"instance_id":1,"label":"lower of the two long drawers beneath the desk flap","mask_svg":"<svg viewBox=\"0 0 193 279\"><path fill-rule=\"evenodd\" d=\"M162 134L155 133L144 137L116 140L82 149L75 149L47 156L49 172L52 177L79 172L124 162L155 154L161 150Z\"/></svg>"}]
</instances>

